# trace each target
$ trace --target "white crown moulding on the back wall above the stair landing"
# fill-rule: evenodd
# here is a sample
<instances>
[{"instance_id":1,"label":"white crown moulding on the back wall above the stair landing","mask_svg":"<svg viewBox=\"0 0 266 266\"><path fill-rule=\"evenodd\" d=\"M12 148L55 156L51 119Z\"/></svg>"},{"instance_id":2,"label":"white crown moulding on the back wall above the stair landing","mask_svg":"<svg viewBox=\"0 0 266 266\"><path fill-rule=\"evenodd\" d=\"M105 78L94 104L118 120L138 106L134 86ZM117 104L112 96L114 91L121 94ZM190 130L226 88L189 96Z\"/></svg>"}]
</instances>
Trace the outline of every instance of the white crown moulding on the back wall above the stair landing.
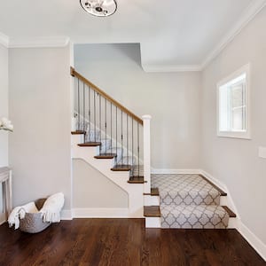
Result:
<instances>
[{"instance_id":1,"label":"white crown moulding on the back wall above the stair landing","mask_svg":"<svg viewBox=\"0 0 266 266\"><path fill-rule=\"evenodd\" d=\"M148 65L141 64L145 72L192 72L201 71L200 65Z\"/></svg>"}]
</instances>

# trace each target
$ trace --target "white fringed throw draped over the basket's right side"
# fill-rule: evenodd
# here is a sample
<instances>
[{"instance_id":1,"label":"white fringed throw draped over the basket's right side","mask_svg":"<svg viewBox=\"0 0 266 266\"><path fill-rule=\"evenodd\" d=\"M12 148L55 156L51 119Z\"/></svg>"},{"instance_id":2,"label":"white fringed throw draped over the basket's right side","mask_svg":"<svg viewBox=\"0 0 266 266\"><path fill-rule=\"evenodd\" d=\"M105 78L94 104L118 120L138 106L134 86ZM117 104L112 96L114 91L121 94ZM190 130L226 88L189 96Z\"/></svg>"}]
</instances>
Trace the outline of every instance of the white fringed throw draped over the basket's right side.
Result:
<instances>
[{"instance_id":1,"label":"white fringed throw draped over the basket's right side","mask_svg":"<svg viewBox=\"0 0 266 266\"><path fill-rule=\"evenodd\" d=\"M61 192L53 194L45 200L40 210L43 215L43 222L59 223L61 220L60 211L64 203L64 194Z\"/></svg>"}]
</instances>

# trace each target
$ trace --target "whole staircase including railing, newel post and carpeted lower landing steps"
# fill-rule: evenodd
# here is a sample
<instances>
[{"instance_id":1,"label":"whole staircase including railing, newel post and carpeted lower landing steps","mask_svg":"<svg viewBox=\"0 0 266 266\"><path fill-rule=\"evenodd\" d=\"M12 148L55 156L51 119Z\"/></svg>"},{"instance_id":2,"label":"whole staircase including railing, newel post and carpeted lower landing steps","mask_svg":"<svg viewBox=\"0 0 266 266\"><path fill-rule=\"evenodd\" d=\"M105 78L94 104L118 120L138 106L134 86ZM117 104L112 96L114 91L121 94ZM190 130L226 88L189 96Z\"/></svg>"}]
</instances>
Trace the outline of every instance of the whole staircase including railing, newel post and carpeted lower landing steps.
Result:
<instances>
[{"instance_id":1,"label":"whole staircase including railing, newel post and carpeted lower landing steps","mask_svg":"<svg viewBox=\"0 0 266 266\"><path fill-rule=\"evenodd\" d=\"M129 195L123 217L144 217L146 227L234 227L221 206L226 193L200 175L153 175L150 115L142 119L71 68L74 77L72 158L98 169Z\"/></svg>"}]
</instances>

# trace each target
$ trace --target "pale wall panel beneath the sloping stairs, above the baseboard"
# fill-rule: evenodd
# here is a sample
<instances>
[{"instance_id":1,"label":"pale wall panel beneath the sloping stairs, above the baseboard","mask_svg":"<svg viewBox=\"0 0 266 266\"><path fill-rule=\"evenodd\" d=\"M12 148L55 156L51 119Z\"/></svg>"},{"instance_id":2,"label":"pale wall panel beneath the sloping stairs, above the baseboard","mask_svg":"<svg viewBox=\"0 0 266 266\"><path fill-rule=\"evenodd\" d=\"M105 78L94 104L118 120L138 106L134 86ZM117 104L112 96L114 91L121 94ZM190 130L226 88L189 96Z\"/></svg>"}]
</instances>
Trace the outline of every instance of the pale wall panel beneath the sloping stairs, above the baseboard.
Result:
<instances>
[{"instance_id":1,"label":"pale wall panel beneath the sloping stairs, above the baseboard","mask_svg":"<svg viewBox=\"0 0 266 266\"><path fill-rule=\"evenodd\" d=\"M128 207L128 193L84 160L73 160L73 207Z\"/></svg>"}]
</instances>

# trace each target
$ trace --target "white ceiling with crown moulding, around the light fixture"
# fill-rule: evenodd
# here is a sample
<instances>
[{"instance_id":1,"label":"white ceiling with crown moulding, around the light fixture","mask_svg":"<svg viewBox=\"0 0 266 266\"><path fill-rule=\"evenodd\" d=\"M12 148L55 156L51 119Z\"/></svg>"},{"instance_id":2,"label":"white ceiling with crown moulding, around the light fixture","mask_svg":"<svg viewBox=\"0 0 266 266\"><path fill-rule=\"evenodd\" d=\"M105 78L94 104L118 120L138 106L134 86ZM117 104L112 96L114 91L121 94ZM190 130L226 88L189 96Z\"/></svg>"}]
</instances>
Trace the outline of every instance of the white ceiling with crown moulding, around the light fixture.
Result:
<instances>
[{"instance_id":1,"label":"white ceiling with crown moulding, around the light fixture","mask_svg":"<svg viewBox=\"0 0 266 266\"><path fill-rule=\"evenodd\" d=\"M148 71L199 70L265 0L117 0L111 17L84 12L79 0L0 0L0 32L11 46L60 41L141 43Z\"/></svg>"}]
</instances>

